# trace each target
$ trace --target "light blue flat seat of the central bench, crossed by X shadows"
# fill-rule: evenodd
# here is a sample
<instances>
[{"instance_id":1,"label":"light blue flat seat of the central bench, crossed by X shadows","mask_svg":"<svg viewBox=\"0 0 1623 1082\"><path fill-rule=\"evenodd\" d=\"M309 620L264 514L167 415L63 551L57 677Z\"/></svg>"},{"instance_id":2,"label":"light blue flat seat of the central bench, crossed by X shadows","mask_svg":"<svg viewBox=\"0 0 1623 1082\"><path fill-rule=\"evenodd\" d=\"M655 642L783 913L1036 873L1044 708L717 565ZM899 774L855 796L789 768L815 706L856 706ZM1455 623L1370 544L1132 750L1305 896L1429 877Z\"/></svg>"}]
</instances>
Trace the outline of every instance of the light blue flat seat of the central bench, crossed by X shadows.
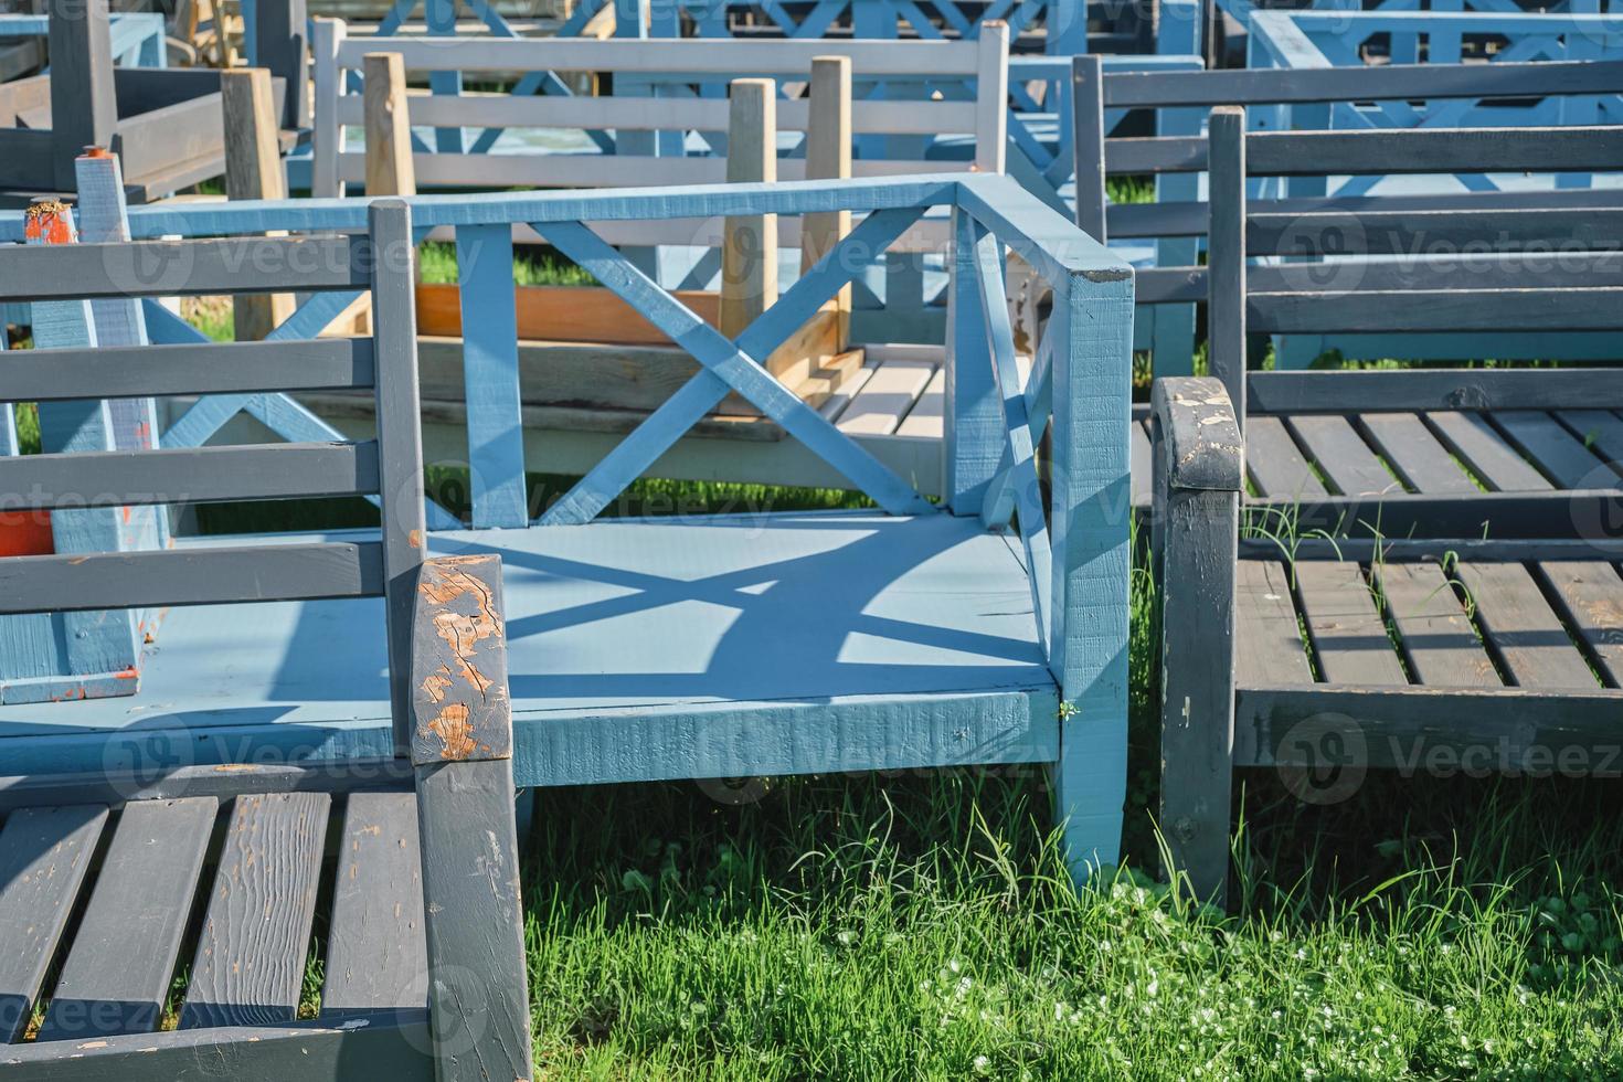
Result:
<instances>
[{"instance_id":1,"label":"light blue flat seat of the central bench, crossed by X shadows","mask_svg":"<svg viewBox=\"0 0 1623 1082\"><path fill-rule=\"evenodd\" d=\"M502 555L519 785L1057 754L1019 540L974 517L604 519L428 547ZM380 605L172 610L140 694L0 707L8 772L386 756Z\"/></svg>"}]
</instances>

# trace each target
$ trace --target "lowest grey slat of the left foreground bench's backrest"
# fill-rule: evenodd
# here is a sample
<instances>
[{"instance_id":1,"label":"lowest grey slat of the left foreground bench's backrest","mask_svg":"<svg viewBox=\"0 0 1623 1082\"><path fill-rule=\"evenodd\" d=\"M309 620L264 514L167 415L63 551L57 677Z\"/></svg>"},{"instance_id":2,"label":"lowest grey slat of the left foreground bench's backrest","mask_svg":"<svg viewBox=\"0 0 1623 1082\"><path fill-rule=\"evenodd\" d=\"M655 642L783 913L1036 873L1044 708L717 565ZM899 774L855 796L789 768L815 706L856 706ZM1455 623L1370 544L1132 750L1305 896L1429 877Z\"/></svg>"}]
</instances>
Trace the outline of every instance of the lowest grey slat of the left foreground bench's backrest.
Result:
<instances>
[{"instance_id":1,"label":"lowest grey slat of the left foreground bench's backrest","mask_svg":"<svg viewBox=\"0 0 1623 1082\"><path fill-rule=\"evenodd\" d=\"M377 542L115 552L0 560L0 612L81 612L377 597Z\"/></svg>"}]
</instances>

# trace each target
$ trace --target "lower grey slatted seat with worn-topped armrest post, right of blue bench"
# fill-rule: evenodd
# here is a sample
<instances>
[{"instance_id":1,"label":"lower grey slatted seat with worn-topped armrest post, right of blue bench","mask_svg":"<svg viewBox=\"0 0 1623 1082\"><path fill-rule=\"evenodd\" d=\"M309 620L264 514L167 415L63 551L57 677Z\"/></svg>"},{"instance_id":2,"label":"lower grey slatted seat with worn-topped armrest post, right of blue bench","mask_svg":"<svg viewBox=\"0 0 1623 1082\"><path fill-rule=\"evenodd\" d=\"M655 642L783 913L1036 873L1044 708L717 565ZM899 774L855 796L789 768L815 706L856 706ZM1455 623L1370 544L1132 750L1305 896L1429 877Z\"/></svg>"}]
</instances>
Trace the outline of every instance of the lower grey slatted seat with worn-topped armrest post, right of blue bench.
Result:
<instances>
[{"instance_id":1,"label":"lower grey slatted seat with worn-topped armrest post, right of blue bench","mask_svg":"<svg viewBox=\"0 0 1623 1082\"><path fill-rule=\"evenodd\" d=\"M1157 380L1152 417L1157 433L1170 433L1156 454L1151 524L1162 569L1160 822L1172 866L1201 895L1225 891L1233 767L1276 771L1308 803L1350 798L1375 769L1623 774L1615 537L1571 537L1558 521L1548 537L1240 535L1233 466L1243 448L1219 386ZM1550 410L1527 412L1555 422ZM1394 415L1404 420L1386 423ZM1509 470L1483 469L1490 490L1472 482L1462 492L1438 461L1446 436L1427 443L1419 433L1440 432L1430 419L1422 427L1415 414L1394 415L1368 423L1365 414L1357 428L1423 448L1407 466L1399 454L1389 461L1422 495L1451 493L1459 521L1472 496L1490 500L1492 485L1511 480ZM1496 419L1443 415L1480 436L1472 451L1508 449L1488 441ZM1529 430L1550 432L1543 422ZM1472 469L1480 461L1493 459ZM1198 608L1216 612L1196 623Z\"/></svg>"}]
</instances>

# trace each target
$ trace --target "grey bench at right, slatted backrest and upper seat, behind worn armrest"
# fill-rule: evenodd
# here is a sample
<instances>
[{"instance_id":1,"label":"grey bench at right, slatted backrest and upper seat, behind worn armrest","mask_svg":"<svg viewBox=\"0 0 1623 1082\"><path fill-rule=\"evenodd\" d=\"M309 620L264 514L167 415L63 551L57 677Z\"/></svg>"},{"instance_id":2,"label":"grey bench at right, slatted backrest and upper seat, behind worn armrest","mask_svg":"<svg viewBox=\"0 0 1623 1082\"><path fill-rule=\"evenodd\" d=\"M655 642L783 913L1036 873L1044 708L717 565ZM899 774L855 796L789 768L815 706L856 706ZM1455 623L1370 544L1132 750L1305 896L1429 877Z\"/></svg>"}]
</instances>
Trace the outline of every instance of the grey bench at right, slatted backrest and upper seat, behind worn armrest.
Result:
<instances>
[{"instance_id":1,"label":"grey bench at right, slatted backrest and upper seat, behind worn armrest","mask_svg":"<svg viewBox=\"0 0 1623 1082\"><path fill-rule=\"evenodd\" d=\"M1388 170L1617 170L1618 128L1492 128L1245 135L1211 120L1211 255L1203 277L1211 371L1246 435L1255 503L1298 527L1380 521L1383 532L1571 535L1604 521L1623 459L1623 371L1592 365L1425 371L1250 371L1246 339L1384 331L1459 334L1466 357L1496 339L1623 326L1617 191L1553 191L1537 206L1457 203L1279 209L1251 203L1266 175ZM1414 255L1419 251L1420 255ZM1272 266L1255 256L1303 256ZM1143 279L1141 279L1143 281ZM1552 521L1555 516L1555 521ZM1561 526L1566 522L1568 526Z\"/></svg>"}]
</instances>

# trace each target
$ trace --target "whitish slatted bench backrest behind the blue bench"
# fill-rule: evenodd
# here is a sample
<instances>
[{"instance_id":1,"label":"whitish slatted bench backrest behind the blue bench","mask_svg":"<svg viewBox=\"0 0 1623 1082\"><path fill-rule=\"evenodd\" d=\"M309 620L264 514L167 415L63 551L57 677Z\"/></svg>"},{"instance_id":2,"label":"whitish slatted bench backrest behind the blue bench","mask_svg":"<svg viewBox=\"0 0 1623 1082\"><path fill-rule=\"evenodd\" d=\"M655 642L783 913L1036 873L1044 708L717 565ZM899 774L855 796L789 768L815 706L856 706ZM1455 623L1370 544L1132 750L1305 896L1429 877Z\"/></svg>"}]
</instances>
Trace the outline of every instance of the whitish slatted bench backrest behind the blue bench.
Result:
<instances>
[{"instance_id":1,"label":"whitish slatted bench backrest behind the blue bench","mask_svg":"<svg viewBox=\"0 0 1623 1082\"><path fill-rule=\"evenodd\" d=\"M721 183L727 180L724 152L688 157L680 143L690 133L724 148L717 133L729 123L725 97L695 91L724 86L738 76L782 81L810 78L816 57L850 57L852 78L862 83L917 83L914 101L860 101L852 131L860 149L852 162L857 177L977 169L1001 172L1006 140L1008 31L988 24L975 41L682 41L682 39L492 39L390 37L349 39L344 24L316 23L313 193L341 195L346 183L365 178L365 156L344 149L344 131L365 123L357 73L368 54L396 52L407 71L433 79L493 81L518 76L511 94L427 94L409 99L411 122L438 128L437 149L414 159L420 187L552 187L610 188ZM613 96L570 94L560 73L599 73L613 78ZM974 79L974 101L932 101L928 81ZM860 97L860 92L859 92ZM808 101L777 102L777 127L805 131ZM464 130L484 128L466 143ZM601 152L487 154L505 128L586 131ZM657 133L657 135L656 135ZM974 136L971 162L920 161L919 148L935 136ZM878 149L873 136L886 140ZM656 154L656 140L674 149ZM894 148L894 151L891 149ZM802 159L784 159L782 180L803 178Z\"/></svg>"}]
</instances>

